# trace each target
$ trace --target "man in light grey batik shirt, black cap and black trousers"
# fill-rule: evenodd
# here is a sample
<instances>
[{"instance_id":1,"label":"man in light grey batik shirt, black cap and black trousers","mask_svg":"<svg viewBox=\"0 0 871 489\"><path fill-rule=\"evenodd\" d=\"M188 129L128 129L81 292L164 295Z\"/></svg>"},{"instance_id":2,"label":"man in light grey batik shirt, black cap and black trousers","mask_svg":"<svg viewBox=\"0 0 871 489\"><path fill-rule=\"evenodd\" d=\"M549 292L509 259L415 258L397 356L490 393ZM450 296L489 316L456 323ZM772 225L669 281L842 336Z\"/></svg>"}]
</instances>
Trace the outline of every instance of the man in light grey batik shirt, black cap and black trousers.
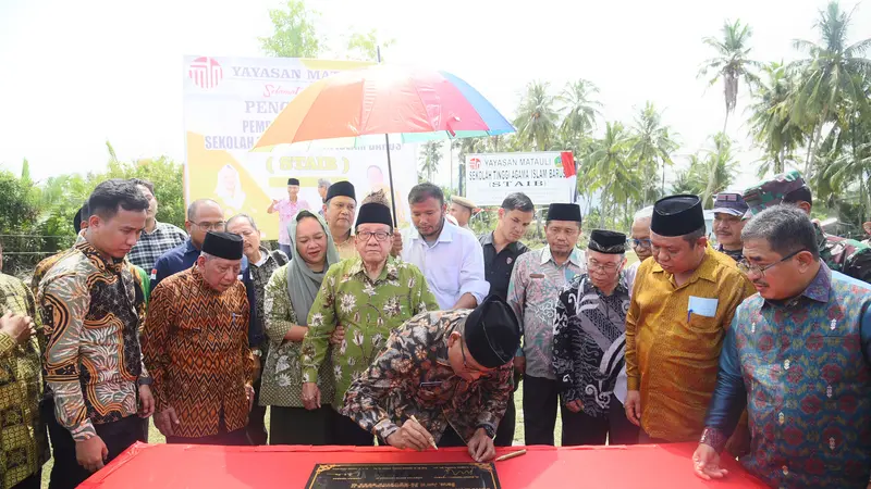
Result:
<instances>
[{"instance_id":1,"label":"man in light grey batik shirt, black cap and black trousers","mask_svg":"<svg viewBox=\"0 0 871 489\"><path fill-rule=\"evenodd\" d=\"M524 374L524 440L553 446L560 386L553 373L553 317L560 291L586 268L580 208L552 203L544 233L548 246L517 259L507 302L520 322L523 349L515 363Z\"/></svg>"}]
</instances>

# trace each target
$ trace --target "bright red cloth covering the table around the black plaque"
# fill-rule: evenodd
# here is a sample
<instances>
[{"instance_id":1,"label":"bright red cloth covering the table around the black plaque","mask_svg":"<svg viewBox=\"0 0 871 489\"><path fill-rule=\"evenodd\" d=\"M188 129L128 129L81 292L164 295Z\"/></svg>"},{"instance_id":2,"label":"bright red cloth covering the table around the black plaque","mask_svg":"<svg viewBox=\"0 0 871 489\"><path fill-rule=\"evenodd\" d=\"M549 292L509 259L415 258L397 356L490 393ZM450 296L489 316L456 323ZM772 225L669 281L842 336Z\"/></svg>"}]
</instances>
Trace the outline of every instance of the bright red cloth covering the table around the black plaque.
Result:
<instances>
[{"instance_id":1,"label":"bright red cloth covering the table around the black plaque","mask_svg":"<svg viewBox=\"0 0 871 489\"><path fill-rule=\"evenodd\" d=\"M499 449L499 454L524 447ZM735 461L729 475L704 481L692 474L696 443L635 447L527 447L496 462L503 489L762 488ZM203 447L136 443L94 474L86 489L304 488L316 463L471 462L465 449L397 451L389 447Z\"/></svg>"}]
</instances>

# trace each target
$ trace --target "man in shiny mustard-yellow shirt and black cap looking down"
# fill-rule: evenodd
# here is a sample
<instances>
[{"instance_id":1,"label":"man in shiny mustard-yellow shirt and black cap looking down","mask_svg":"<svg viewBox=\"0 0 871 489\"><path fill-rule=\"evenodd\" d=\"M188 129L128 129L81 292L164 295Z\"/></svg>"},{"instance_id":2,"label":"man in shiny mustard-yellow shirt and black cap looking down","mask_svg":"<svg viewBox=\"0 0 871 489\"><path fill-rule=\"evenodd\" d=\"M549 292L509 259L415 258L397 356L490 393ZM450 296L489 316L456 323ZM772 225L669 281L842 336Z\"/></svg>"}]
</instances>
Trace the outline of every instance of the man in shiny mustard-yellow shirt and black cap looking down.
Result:
<instances>
[{"instance_id":1,"label":"man in shiny mustard-yellow shirt and black cap looking down","mask_svg":"<svg viewBox=\"0 0 871 489\"><path fill-rule=\"evenodd\" d=\"M626 417L645 443L696 441L735 309L755 293L735 261L708 246L697 196L657 201L653 260L635 277L626 316Z\"/></svg>"}]
</instances>

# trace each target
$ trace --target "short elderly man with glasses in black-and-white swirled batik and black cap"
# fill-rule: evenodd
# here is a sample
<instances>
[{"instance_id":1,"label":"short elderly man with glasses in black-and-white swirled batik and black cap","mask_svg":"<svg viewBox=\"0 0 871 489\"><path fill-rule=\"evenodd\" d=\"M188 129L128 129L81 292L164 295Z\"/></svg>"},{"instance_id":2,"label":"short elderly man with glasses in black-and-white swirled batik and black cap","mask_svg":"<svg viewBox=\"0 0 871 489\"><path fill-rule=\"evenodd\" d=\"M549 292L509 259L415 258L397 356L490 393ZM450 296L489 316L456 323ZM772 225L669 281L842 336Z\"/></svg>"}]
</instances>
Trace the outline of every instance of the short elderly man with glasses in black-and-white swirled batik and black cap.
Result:
<instances>
[{"instance_id":1,"label":"short elderly man with glasses in black-and-white swirled batik and black cap","mask_svg":"<svg viewBox=\"0 0 871 489\"><path fill-rule=\"evenodd\" d=\"M638 442L638 427L626 419L622 403L629 309L625 264L626 235L593 229L587 272L556 302L553 369L563 402L563 447L605 444L605 439L610 444Z\"/></svg>"}]
</instances>

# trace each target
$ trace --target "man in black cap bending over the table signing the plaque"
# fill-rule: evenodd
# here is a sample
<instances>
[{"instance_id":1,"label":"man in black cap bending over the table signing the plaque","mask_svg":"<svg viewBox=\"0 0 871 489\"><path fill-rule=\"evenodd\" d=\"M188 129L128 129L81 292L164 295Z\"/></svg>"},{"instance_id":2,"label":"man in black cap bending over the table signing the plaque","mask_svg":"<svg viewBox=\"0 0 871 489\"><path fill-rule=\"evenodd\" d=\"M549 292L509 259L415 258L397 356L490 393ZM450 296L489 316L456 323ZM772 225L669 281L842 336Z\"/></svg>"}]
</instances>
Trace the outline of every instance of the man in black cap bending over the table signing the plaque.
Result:
<instances>
[{"instance_id":1,"label":"man in black cap bending over the table signing the plaque","mask_svg":"<svg viewBox=\"0 0 871 489\"><path fill-rule=\"evenodd\" d=\"M498 296L475 310L421 314L351 384L342 414L391 447L468 447L475 461L490 461L518 344L517 318Z\"/></svg>"}]
</instances>

